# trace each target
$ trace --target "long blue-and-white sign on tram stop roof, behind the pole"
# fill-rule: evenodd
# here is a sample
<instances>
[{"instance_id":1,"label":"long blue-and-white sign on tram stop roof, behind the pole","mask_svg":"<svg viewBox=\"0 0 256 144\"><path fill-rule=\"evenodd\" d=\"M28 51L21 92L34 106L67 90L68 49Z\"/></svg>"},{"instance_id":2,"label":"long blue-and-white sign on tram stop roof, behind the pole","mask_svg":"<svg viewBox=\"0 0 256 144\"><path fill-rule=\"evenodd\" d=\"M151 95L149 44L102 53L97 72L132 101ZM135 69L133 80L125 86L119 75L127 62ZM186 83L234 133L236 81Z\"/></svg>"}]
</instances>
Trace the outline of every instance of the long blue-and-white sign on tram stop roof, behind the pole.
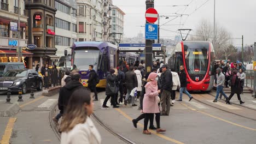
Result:
<instances>
[{"instance_id":1,"label":"long blue-and-white sign on tram stop roof, behind the pole","mask_svg":"<svg viewBox=\"0 0 256 144\"><path fill-rule=\"evenodd\" d=\"M145 44L119 44L119 51L143 51ZM161 44L153 44L153 51L161 51Z\"/></svg>"}]
</instances>

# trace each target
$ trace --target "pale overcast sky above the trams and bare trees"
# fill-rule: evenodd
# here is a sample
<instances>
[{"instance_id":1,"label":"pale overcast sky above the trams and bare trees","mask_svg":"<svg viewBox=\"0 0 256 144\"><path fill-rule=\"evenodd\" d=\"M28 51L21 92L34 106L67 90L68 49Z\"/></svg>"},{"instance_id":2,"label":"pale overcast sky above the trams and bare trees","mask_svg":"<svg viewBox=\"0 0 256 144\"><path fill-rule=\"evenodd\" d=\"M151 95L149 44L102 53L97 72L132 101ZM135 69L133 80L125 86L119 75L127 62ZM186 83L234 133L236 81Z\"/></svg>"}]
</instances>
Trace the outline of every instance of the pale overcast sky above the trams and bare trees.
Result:
<instances>
[{"instance_id":1,"label":"pale overcast sky above the trams and bare trees","mask_svg":"<svg viewBox=\"0 0 256 144\"><path fill-rule=\"evenodd\" d=\"M124 35L135 37L138 32L144 34L146 0L113 0L113 4L122 9L125 15ZM205 4L204 4L205 3ZM177 31L179 28L195 29L200 20L207 19L213 25L214 0L155 0L155 9L160 15L173 16L177 14L188 14L170 21L161 17L162 29ZM189 5L188 5L189 4ZM172 5L188 5L177 6ZM201 6L201 7L200 7ZM244 37L244 44L256 42L256 1L255 0L216 0L216 23L223 26L232 35L232 38ZM170 21L170 22L168 22ZM181 24L181 25L180 25ZM169 26L168 26L169 25ZM160 29L160 38L173 39L178 33ZM178 31L177 31L178 32ZM232 39L235 46L241 46L241 39Z\"/></svg>"}]
</instances>

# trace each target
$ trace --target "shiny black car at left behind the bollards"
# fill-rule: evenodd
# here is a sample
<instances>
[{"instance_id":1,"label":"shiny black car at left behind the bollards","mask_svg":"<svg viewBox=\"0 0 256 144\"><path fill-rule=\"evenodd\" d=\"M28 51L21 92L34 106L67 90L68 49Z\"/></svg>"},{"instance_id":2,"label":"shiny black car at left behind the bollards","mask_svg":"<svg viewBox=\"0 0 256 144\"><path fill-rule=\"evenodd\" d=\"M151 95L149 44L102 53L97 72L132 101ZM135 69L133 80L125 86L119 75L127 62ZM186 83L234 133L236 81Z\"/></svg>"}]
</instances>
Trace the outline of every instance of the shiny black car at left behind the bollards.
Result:
<instances>
[{"instance_id":1,"label":"shiny black car at left behind the bollards","mask_svg":"<svg viewBox=\"0 0 256 144\"><path fill-rule=\"evenodd\" d=\"M22 93L25 94L28 89L34 86L38 91L43 88L43 77L33 69L8 70L0 77L0 92L18 92L22 88Z\"/></svg>"}]
</instances>

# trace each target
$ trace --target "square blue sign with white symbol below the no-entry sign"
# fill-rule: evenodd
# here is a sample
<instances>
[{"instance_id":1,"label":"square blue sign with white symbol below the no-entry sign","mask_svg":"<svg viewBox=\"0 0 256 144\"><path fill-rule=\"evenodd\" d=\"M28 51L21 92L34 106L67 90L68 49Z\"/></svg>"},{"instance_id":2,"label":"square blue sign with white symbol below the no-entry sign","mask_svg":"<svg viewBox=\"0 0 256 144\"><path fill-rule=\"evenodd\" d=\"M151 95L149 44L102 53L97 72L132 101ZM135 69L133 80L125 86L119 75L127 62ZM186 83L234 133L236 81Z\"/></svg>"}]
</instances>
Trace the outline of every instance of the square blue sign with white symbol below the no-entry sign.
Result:
<instances>
[{"instance_id":1,"label":"square blue sign with white symbol below the no-entry sign","mask_svg":"<svg viewBox=\"0 0 256 144\"><path fill-rule=\"evenodd\" d=\"M145 39L158 39L158 25L146 23Z\"/></svg>"}]
</instances>

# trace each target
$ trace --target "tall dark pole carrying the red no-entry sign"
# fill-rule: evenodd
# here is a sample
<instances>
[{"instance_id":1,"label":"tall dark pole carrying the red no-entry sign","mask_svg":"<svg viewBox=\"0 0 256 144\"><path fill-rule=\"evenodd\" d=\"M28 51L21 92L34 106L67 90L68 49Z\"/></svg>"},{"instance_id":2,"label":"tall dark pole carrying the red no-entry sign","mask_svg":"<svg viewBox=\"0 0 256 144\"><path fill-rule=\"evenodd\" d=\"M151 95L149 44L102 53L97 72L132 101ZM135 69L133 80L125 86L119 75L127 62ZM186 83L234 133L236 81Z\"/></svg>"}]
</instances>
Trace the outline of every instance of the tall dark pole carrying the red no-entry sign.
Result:
<instances>
[{"instance_id":1,"label":"tall dark pole carrying the red no-entry sign","mask_svg":"<svg viewBox=\"0 0 256 144\"><path fill-rule=\"evenodd\" d=\"M154 8L154 0L146 0L146 10L148 8ZM146 23L149 23L146 21ZM146 47L145 47L145 52L146 52L146 62L145 62L145 66L146 66L146 71L147 72L151 72L152 69L152 56L153 56L153 48L152 48L152 40L146 39Z\"/></svg>"}]
</instances>

